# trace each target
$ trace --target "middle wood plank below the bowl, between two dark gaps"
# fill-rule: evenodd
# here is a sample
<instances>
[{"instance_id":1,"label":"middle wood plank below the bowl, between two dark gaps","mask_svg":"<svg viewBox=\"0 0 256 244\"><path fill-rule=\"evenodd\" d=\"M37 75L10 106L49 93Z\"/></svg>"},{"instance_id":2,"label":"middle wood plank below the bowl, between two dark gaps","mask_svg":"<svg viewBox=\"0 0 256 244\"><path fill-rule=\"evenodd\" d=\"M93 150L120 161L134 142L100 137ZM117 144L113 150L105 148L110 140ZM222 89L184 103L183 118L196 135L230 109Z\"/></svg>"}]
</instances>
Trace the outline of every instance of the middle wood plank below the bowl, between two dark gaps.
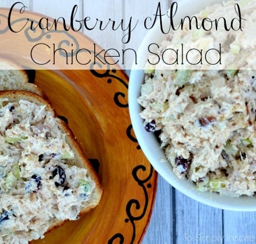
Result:
<instances>
[{"instance_id":1,"label":"middle wood plank below the bowl, between two dark gaps","mask_svg":"<svg viewBox=\"0 0 256 244\"><path fill-rule=\"evenodd\" d=\"M222 238L222 210L198 203L176 191L176 241L211 243ZM214 242L213 242L214 243Z\"/></svg>"}]
</instances>

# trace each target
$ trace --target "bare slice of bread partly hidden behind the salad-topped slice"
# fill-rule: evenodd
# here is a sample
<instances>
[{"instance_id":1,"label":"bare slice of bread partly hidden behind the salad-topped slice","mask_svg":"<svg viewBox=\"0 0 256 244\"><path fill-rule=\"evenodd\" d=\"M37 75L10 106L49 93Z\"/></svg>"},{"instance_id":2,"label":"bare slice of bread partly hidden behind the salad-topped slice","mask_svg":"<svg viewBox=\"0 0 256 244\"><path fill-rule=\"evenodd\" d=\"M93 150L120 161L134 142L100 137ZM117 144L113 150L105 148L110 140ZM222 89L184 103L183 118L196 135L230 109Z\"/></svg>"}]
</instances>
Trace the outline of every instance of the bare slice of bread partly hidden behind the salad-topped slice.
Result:
<instances>
[{"instance_id":1,"label":"bare slice of bread partly hidden behind the salad-topped slice","mask_svg":"<svg viewBox=\"0 0 256 244\"><path fill-rule=\"evenodd\" d=\"M14 62L0 60L0 90L25 90L44 96L44 92L35 84L28 83L28 75Z\"/></svg>"}]
</instances>

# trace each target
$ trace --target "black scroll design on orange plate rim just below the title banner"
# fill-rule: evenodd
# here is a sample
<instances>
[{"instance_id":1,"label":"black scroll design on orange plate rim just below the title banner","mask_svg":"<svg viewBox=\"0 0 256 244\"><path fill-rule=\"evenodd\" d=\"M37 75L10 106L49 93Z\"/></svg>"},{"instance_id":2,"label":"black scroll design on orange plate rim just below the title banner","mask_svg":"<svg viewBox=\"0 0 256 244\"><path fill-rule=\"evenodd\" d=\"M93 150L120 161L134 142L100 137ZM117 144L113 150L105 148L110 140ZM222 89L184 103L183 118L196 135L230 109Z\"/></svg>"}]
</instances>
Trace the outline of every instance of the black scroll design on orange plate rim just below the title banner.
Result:
<instances>
[{"instance_id":1,"label":"black scroll design on orange plate rim just below the title banner","mask_svg":"<svg viewBox=\"0 0 256 244\"><path fill-rule=\"evenodd\" d=\"M106 70L100 70L100 69L94 69L94 63L91 64L90 67L90 71L92 72L92 74L98 78L109 78L108 79L108 83L111 84L113 79L119 81L126 89L128 89L128 84L125 83L125 81L123 79L121 79L120 77L116 76L116 69L110 69L110 66L107 65L106 67L108 69ZM97 63L97 66L99 68L102 68L100 63ZM103 72L100 72L103 71ZM117 91L114 95L114 102L115 104L120 107L120 108L127 108L128 107L128 103L123 103L121 102L121 99L125 99L126 94L121 92L121 91Z\"/></svg>"}]
</instances>

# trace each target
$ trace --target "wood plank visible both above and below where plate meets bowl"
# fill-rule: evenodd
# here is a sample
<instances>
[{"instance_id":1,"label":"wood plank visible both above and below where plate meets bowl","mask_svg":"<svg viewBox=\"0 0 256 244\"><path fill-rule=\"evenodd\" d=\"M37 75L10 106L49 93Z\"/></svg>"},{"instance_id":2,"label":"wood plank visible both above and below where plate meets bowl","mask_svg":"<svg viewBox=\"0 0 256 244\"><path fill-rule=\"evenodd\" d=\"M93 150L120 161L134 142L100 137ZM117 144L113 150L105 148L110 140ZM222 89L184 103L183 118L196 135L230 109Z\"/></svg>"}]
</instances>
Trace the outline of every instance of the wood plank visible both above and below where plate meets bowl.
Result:
<instances>
[{"instance_id":1,"label":"wood plank visible both above and below where plate meets bowl","mask_svg":"<svg viewBox=\"0 0 256 244\"><path fill-rule=\"evenodd\" d=\"M167 9L170 0L161 1L164 9ZM132 38L128 44L123 45L124 48L133 48L136 52L138 47L147 33L143 28L145 17L152 16L156 11L156 4L148 4L148 1L125 1L124 19L129 19L131 14L134 19L138 19L138 24L132 32ZM124 68L129 70L132 67L134 57L126 56ZM158 189L156 194L156 202L151 218L150 225L143 239L143 244L170 244L173 242L173 230L175 225L175 196L174 189L161 176L158 176Z\"/></svg>"}]
</instances>

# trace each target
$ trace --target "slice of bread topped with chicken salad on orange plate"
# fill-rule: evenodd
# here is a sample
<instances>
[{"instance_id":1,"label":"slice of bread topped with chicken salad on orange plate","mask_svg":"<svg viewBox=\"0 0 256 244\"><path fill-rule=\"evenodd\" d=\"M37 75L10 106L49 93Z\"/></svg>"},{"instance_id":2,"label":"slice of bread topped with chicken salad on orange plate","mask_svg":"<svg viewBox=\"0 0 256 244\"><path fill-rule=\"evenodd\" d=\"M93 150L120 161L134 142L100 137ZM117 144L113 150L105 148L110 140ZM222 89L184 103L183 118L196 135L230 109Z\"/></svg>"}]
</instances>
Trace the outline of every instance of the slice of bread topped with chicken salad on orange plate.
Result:
<instances>
[{"instance_id":1,"label":"slice of bread topped with chicken salad on orange plate","mask_svg":"<svg viewBox=\"0 0 256 244\"><path fill-rule=\"evenodd\" d=\"M45 99L0 92L0 243L28 243L99 204L102 189Z\"/></svg>"}]
</instances>

